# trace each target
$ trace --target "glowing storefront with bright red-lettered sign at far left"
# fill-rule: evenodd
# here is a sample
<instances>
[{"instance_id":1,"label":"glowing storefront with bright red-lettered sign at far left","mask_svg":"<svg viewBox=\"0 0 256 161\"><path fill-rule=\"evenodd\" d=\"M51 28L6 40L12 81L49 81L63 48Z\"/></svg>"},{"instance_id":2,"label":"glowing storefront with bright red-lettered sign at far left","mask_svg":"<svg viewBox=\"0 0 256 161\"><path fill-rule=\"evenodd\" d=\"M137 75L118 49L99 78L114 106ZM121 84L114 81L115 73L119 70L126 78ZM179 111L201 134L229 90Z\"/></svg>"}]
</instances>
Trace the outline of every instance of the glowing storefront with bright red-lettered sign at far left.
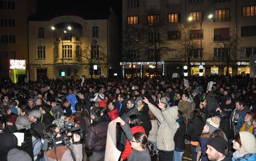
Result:
<instances>
[{"instance_id":1,"label":"glowing storefront with bright red-lettered sign at far left","mask_svg":"<svg viewBox=\"0 0 256 161\"><path fill-rule=\"evenodd\" d=\"M24 79L26 74L26 60L10 59L10 79L17 83L19 79Z\"/></svg>"}]
</instances>

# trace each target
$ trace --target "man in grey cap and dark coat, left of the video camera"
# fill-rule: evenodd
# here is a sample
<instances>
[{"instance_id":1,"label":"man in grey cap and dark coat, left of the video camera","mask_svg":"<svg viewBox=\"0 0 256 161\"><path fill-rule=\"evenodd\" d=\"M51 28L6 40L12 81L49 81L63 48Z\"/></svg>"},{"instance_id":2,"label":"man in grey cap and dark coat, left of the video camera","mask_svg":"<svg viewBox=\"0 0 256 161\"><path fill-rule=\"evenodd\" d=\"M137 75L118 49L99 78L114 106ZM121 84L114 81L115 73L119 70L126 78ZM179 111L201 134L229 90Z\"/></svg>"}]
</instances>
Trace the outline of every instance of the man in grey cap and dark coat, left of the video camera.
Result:
<instances>
[{"instance_id":1,"label":"man in grey cap and dark coat, left of the video camera","mask_svg":"<svg viewBox=\"0 0 256 161\"><path fill-rule=\"evenodd\" d=\"M29 112L29 121L32 122L31 129L36 131L42 138L43 137L42 130L45 129L45 124L40 122L39 120L40 117L41 117L40 110L35 109Z\"/></svg>"}]
</instances>

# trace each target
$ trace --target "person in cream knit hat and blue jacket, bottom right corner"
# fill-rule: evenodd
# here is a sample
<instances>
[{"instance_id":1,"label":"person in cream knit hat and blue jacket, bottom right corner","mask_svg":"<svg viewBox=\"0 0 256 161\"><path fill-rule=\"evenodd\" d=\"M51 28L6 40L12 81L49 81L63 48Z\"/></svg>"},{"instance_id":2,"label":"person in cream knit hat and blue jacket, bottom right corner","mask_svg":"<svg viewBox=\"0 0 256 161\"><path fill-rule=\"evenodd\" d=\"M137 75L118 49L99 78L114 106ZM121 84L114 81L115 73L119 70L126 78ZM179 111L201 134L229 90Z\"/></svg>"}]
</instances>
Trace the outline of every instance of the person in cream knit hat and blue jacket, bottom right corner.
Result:
<instances>
[{"instance_id":1,"label":"person in cream knit hat and blue jacket, bottom right corner","mask_svg":"<svg viewBox=\"0 0 256 161\"><path fill-rule=\"evenodd\" d=\"M243 131L236 134L233 148L236 151L233 153L232 161L256 160L256 139L252 133Z\"/></svg>"}]
</instances>

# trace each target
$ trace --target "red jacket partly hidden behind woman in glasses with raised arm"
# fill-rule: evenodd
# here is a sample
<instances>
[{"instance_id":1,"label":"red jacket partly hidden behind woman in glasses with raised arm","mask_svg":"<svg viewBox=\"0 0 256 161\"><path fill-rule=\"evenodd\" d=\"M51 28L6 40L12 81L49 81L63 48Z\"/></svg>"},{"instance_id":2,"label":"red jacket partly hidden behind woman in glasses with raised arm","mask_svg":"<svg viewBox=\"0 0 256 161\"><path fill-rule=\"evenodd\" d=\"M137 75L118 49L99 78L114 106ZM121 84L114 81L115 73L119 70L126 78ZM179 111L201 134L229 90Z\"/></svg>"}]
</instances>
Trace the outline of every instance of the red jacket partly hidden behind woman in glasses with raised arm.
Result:
<instances>
[{"instance_id":1,"label":"red jacket partly hidden behind woman in glasses with raised arm","mask_svg":"<svg viewBox=\"0 0 256 161\"><path fill-rule=\"evenodd\" d=\"M142 126L135 126L135 127L130 128L130 130L132 130L132 134L135 134L136 132L145 133L145 130ZM130 147L130 142L128 139L126 139L126 146L124 147L124 151L121 155L121 158L128 159L130 154L132 154L132 152L133 152L133 149L132 149L132 147Z\"/></svg>"}]
</instances>

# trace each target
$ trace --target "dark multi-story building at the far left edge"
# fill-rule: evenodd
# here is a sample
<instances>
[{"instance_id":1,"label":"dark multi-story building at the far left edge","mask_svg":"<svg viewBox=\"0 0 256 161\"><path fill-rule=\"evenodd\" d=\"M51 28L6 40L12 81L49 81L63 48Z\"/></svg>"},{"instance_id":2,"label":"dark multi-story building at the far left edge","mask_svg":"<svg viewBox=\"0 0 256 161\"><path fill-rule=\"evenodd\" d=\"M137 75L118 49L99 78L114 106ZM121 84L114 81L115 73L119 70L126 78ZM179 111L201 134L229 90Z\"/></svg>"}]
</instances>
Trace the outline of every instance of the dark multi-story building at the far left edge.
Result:
<instances>
[{"instance_id":1,"label":"dark multi-story building at the far left edge","mask_svg":"<svg viewBox=\"0 0 256 161\"><path fill-rule=\"evenodd\" d=\"M35 12L36 0L0 1L0 77L10 77L13 81L25 77L25 70L9 70L9 59L28 60L27 22Z\"/></svg>"}]
</instances>

